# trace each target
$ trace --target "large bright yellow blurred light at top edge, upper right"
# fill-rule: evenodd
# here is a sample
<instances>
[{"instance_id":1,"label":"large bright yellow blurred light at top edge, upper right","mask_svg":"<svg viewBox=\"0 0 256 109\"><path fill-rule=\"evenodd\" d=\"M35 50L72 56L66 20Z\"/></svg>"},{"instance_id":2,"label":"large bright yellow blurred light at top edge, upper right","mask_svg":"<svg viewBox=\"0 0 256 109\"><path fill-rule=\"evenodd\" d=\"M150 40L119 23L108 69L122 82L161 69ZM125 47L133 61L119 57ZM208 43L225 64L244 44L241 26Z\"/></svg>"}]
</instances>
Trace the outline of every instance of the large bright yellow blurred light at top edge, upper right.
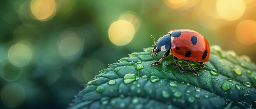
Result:
<instances>
[{"instance_id":1,"label":"large bright yellow blurred light at top edge, upper right","mask_svg":"<svg viewBox=\"0 0 256 109\"><path fill-rule=\"evenodd\" d=\"M243 0L218 0L216 7L223 19L236 20L243 15L246 5Z\"/></svg>"}]
</instances>

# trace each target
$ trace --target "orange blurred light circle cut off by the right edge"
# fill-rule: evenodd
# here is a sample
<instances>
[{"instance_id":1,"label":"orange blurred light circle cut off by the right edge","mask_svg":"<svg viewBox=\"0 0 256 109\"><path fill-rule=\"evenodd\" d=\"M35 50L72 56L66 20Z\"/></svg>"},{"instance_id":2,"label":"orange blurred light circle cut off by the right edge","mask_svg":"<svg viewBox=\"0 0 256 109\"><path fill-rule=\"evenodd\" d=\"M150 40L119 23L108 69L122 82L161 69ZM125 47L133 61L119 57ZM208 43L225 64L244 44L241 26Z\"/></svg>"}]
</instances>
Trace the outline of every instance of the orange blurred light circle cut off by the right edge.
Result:
<instances>
[{"instance_id":1,"label":"orange blurred light circle cut off by the right edge","mask_svg":"<svg viewBox=\"0 0 256 109\"><path fill-rule=\"evenodd\" d=\"M236 27L237 39L246 45L256 42L256 22L253 20L244 20Z\"/></svg>"}]
</instances>

